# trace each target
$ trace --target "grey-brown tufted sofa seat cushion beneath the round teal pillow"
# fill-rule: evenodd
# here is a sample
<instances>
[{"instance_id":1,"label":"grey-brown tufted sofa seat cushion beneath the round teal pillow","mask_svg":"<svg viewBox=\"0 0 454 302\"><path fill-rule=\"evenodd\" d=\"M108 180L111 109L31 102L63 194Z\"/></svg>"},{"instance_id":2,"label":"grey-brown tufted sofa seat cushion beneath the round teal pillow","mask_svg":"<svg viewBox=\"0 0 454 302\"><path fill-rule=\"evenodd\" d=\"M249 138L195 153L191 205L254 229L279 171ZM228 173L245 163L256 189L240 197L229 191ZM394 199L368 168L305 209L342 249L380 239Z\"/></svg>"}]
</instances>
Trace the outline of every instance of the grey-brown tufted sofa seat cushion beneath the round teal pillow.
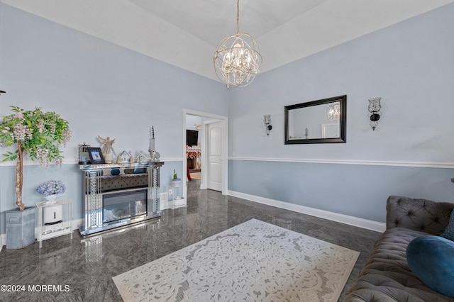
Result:
<instances>
[{"instance_id":1,"label":"grey-brown tufted sofa seat cushion beneath the round teal pillow","mask_svg":"<svg viewBox=\"0 0 454 302\"><path fill-rule=\"evenodd\" d=\"M343 301L454 301L429 288L406 262L406 247L428 235L408 228L385 231Z\"/></svg>"}]
</instances>

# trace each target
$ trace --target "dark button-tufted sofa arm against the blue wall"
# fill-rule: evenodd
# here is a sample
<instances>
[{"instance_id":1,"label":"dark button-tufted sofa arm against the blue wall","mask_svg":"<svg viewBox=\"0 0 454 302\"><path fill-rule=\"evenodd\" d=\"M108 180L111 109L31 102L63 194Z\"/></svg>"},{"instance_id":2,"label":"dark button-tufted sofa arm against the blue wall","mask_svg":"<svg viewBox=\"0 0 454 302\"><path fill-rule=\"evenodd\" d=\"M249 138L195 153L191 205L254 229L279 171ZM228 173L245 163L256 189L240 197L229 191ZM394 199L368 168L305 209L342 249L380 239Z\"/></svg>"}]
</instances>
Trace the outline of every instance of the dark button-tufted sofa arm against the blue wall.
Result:
<instances>
[{"instance_id":1,"label":"dark button-tufted sofa arm against the blue wall","mask_svg":"<svg viewBox=\"0 0 454 302\"><path fill-rule=\"evenodd\" d=\"M386 228L409 228L440 235L448 226L454 203L389 196L386 205Z\"/></svg>"}]
</instances>

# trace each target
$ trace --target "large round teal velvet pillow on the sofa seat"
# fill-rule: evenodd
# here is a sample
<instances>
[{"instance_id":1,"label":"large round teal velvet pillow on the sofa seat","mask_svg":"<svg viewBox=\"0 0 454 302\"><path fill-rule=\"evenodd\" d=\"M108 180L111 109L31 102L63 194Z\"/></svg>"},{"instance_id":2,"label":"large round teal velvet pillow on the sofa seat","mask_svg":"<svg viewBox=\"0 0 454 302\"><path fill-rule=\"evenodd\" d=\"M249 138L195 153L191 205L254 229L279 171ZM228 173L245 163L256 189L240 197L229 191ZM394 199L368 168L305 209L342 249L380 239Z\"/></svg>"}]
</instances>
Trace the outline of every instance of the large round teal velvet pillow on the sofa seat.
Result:
<instances>
[{"instance_id":1,"label":"large round teal velvet pillow on the sofa seat","mask_svg":"<svg viewBox=\"0 0 454 302\"><path fill-rule=\"evenodd\" d=\"M406 247L406 261L428 287L454 298L454 242L440 236L417 237Z\"/></svg>"}]
</instances>

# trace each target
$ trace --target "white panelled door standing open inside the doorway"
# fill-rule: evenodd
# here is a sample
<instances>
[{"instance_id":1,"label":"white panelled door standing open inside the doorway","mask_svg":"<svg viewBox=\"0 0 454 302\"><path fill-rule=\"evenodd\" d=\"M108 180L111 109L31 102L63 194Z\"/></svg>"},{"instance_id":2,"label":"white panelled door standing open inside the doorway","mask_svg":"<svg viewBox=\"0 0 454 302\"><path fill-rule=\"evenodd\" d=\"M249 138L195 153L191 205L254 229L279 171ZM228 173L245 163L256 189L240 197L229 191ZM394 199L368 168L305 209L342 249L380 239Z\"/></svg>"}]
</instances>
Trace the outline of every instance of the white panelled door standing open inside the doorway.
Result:
<instances>
[{"instance_id":1,"label":"white panelled door standing open inside the doorway","mask_svg":"<svg viewBox=\"0 0 454 302\"><path fill-rule=\"evenodd\" d=\"M222 191L223 122L208 125L208 189Z\"/></svg>"}]
</instances>

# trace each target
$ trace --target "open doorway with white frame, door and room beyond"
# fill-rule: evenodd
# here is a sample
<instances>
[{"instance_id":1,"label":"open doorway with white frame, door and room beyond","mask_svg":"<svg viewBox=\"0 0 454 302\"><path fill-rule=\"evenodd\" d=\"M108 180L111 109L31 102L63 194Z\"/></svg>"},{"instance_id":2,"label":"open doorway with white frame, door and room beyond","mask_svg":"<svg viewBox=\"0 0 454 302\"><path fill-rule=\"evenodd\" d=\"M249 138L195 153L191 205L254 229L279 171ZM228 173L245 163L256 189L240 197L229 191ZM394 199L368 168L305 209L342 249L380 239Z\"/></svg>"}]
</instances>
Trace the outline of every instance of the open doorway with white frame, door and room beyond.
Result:
<instances>
[{"instance_id":1,"label":"open doorway with white frame, door and room beyond","mask_svg":"<svg viewBox=\"0 0 454 302\"><path fill-rule=\"evenodd\" d=\"M187 149L187 135L191 133L189 128L192 121L199 125L199 140L196 146ZM183 110L183 171L189 172L200 170L200 189L214 189L227 195L228 191L228 118L200 111ZM192 152L189 155L188 153ZM199 155L197 155L199 152ZM192 158L191 158L192 157ZM194 160L195 159L195 160ZM195 165L195 169L194 169ZM200 168L200 169L197 169ZM188 180L188 174L184 173L184 181Z\"/></svg>"}]
</instances>

